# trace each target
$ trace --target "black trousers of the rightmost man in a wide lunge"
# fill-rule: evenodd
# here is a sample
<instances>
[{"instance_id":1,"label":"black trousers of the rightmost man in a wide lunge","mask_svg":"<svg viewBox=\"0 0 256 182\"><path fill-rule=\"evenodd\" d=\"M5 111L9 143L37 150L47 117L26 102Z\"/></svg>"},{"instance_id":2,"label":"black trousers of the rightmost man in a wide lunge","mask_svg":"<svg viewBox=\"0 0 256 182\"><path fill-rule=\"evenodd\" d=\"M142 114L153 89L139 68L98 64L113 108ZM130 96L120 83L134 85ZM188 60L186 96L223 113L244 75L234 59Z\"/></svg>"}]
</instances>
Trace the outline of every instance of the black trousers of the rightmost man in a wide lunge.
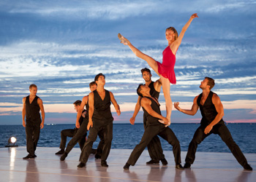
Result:
<instances>
[{"instance_id":1,"label":"black trousers of the rightmost man in a wide lunge","mask_svg":"<svg viewBox=\"0 0 256 182\"><path fill-rule=\"evenodd\" d=\"M244 167L244 165L247 164L247 160L244 157L244 154L241 152L241 149L236 144L236 142L233 141L230 131L227 129L224 123L214 125L211 132L208 133L207 135L204 133L205 128L206 127L203 127L201 125L195 131L194 137L192 138L192 141L189 143L189 149L187 151L187 157L185 159L185 162L193 164L193 162L195 161L195 152L197 151L197 145L200 144L206 137L208 137L208 135L214 133L218 134L220 138L222 138L222 141L226 143L226 145L232 152L233 156L236 157L236 160L239 162L241 166Z\"/></svg>"}]
</instances>

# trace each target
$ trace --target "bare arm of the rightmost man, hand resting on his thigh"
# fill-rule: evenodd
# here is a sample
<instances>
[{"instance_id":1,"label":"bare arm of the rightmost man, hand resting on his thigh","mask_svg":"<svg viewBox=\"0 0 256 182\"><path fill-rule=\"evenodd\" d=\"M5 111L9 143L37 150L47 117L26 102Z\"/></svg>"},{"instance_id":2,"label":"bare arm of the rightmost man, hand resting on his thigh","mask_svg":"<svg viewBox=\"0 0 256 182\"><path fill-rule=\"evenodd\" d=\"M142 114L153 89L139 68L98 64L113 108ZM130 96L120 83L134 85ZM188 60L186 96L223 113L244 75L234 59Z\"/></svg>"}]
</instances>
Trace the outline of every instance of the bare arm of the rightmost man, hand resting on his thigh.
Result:
<instances>
[{"instance_id":1,"label":"bare arm of the rightmost man, hand resting on his thigh","mask_svg":"<svg viewBox=\"0 0 256 182\"><path fill-rule=\"evenodd\" d=\"M218 95L216 95L216 94L213 95L212 103L214 103L214 106L215 106L218 114L214 118L214 120L206 127L206 129L204 131L205 134L208 134L209 132L211 132L214 125L217 124L220 121L220 119L222 119L222 117L224 116L224 108L223 108L222 102L220 101Z\"/></svg>"}]
</instances>

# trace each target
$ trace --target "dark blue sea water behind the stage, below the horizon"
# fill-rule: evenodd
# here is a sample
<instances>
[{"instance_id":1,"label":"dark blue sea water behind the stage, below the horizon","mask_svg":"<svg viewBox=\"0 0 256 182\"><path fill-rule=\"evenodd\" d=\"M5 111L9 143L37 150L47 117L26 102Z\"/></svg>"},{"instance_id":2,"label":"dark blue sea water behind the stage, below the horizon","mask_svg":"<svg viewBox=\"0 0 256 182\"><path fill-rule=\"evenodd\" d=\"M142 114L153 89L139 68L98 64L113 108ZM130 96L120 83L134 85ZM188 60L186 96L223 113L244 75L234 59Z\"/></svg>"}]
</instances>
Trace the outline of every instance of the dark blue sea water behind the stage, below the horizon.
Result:
<instances>
[{"instance_id":1,"label":"dark blue sea water behind the stage, below the horizon","mask_svg":"<svg viewBox=\"0 0 256 182\"><path fill-rule=\"evenodd\" d=\"M171 124L170 128L176 134L181 144L181 151L187 151L195 130L200 124ZM45 125L41 130L38 146L59 147L61 130L72 129L75 124ZM256 153L256 124L227 124L234 141L244 153ZM134 149L143 135L143 124L113 124L112 149ZM88 133L89 134L89 133ZM0 147L7 145L8 138L15 136L18 146L26 146L26 133L22 125L0 126ZM71 138L67 138L67 142ZM165 151L172 150L167 141L160 138ZM99 138L94 142L97 148ZM78 144L75 147L79 147ZM210 135L197 148L197 151L230 152L219 135Z\"/></svg>"}]
</instances>

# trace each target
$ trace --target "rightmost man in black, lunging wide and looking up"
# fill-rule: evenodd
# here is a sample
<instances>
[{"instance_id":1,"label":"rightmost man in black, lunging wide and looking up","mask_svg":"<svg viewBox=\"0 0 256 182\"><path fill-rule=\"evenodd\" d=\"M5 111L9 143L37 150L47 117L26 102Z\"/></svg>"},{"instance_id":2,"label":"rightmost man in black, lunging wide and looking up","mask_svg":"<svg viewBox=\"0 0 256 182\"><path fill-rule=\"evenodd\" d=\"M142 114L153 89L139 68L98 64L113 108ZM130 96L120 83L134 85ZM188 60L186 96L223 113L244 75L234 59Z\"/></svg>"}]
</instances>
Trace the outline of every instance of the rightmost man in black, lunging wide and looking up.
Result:
<instances>
[{"instance_id":1,"label":"rightmost man in black, lunging wide and looking up","mask_svg":"<svg viewBox=\"0 0 256 182\"><path fill-rule=\"evenodd\" d=\"M200 127L197 128L192 141L189 143L189 149L187 151L187 157L185 159L185 168L190 168L195 161L195 152L197 151L197 145L200 144L208 135L212 133L218 134L222 141L224 141L234 157L245 170L252 170L252 167L247 163L244 154L241 149L233 141L230 131L225 126L222 119L224 116L224 109L219 96L211 92L211 88L214 87L214 79L205 77L203 82L200 84L200 89L203 92L194 98L192 108L190 110L182 109L178 105L179 103L174 103L174 107L183 112L184 114L194 116L197 113L198 108L200 108L203 118L200 122Z\"/></svg>"}]
</instances>

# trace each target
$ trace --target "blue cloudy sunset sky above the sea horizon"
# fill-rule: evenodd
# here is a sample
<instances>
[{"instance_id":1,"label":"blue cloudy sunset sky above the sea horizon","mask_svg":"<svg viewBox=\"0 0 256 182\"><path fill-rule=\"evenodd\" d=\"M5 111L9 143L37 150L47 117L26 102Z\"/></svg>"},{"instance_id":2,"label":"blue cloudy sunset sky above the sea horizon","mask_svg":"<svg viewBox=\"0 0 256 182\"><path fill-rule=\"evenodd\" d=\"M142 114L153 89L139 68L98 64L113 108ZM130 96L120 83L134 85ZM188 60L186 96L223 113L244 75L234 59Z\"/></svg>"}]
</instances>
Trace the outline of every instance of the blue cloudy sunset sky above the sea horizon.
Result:
<instances>
[{"instance_id":1,"label":"blue cloudy sunset sky above the sea horizon","mask_svg":"<svg viewBox=\"0 0 256 182\"><path fill-rule=\"evenodd\" d=\"M195 12L199 18L176 55L172 100L190 108L200 82L210 76L224 120L256 122L255 9L255 0L0 1L0 124L22 123L22 98L32 83L45 106L45 123L75 123L72 103L89 94L100 72L121 106L121 116L112 109L115 122L129 122L135 89L143 83L140 69L148 65L120 44L117 34L161 62L165 28L181 32ZM165 115L162 94L159 101ZM200 122L200 111L187 116L174 108L171 120ZM136 122L142 122L142 111Z\"/></svg>"}]
</instances>

